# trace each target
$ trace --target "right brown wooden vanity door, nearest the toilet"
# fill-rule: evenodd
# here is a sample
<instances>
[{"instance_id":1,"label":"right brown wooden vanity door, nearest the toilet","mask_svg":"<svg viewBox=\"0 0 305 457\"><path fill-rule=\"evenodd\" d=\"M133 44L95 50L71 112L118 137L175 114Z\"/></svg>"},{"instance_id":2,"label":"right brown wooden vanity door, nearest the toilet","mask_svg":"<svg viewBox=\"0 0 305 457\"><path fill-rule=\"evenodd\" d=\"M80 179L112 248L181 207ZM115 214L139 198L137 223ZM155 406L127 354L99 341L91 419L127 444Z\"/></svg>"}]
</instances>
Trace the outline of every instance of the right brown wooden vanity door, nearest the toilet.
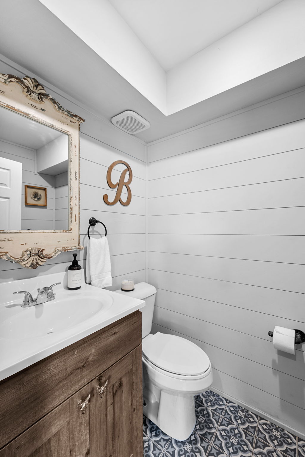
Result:
<instances>
[{"instance_id":1,"label":"right brown wooden vanity door, nearest the toilet","mask_svg":"<svg viewBox=\"0 0 305 457\"><path fill-rule=\"evenodd\" d=\"M96 377L90 393L90 457L143 457L142 345Z\"/></svg>"}]
</instances>

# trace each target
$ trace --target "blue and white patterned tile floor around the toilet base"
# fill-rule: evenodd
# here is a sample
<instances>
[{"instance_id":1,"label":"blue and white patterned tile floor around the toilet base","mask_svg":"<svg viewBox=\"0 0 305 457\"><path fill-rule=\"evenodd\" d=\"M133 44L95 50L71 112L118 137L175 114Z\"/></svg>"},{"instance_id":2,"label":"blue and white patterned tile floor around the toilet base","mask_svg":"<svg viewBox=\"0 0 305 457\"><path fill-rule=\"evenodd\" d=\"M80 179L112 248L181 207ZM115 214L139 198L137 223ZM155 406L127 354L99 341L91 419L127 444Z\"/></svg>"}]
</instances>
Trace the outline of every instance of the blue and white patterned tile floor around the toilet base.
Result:
<instances>
[{"instance_id":1,"label":"blue and white patterned tile floor around the toilet base","mask_svg":"<svg viewBox=\"0 0 305 457\"><path fill-rule=\"evenodd\" d=\"M186 441L145 416L145 457L305 457L305 441L211 390L195 397L196 425Z\"/></svg>"}]
</instances>

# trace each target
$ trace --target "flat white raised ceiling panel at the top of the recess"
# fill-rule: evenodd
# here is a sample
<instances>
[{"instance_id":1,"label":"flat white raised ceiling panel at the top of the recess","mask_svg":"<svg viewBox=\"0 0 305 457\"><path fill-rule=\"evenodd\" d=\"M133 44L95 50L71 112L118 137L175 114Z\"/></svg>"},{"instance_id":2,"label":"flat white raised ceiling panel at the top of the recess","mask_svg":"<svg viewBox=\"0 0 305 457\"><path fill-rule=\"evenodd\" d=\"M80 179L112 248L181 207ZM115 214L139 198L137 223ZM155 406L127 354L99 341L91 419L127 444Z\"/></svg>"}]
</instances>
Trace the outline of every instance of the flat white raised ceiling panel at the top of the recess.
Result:
<instances>
[{"instance_id":1,"label":"flat white raised ceiling panel at the top of the recess","mask_svg":"<svg viewBox=\"0 0 305 457\"><path fill-rule=\"evenodd\" d=\"M169 70L282 0L108 0Z\"/></svg>"}]
</instances>

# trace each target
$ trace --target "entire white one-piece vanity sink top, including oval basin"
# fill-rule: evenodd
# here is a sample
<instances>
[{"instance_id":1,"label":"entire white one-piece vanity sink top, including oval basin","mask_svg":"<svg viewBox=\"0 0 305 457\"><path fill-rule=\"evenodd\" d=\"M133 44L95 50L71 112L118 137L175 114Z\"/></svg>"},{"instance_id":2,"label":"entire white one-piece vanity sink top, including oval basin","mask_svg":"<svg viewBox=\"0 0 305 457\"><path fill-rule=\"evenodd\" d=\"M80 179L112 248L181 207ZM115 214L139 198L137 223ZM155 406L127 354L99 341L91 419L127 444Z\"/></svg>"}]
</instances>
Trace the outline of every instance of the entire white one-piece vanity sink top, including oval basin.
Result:
<instances>
[{"instance_id":1,"label":"entire white one-piece vanity sink top, including oval basin","mask_svg":"<svg viewBox=\"0 0 305 457\"><path fill-rule=\"evenodd\" d=\"M0 381L23 368L86 338L128 314L142 308L144 302L86 284L82 270L79 290L67 289L67 271L0 283ZM21 308L28 291L37 296L37 288L54 287L55 299Z\"/></svg>"}]
</instances>

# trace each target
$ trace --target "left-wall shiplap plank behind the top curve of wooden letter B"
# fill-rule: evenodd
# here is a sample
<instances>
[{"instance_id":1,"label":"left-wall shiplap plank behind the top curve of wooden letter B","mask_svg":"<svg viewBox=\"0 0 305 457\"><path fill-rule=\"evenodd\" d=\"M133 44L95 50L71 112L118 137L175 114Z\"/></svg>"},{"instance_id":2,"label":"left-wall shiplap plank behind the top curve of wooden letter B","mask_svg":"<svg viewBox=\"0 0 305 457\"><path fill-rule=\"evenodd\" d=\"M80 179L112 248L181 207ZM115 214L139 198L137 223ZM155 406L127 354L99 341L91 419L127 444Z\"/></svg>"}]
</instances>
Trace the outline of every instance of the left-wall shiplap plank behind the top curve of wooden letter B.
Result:
<instances>
[{"instance_id":1,"label":"left-wall shiplap plank behind the top curve of wooden letter B","mask_svg":"<svg viewBox=\"0 0 305 457\"><path fill-rule=\"evenodd\" d=\"M102 143L95 138L90 138L82 135L80 138L80 157L82 159L90 160L96 164L104 165L107 168L116 160L123 160L130 166L134 176L145 179L145 163L138 160L129 154L112 148L108 144ZM143 153L142 160L145 160L145 154ZM121 168L125 168L121 165ZM120 170L117 165L114 170Z\"/></svg>"}]
</instances>

